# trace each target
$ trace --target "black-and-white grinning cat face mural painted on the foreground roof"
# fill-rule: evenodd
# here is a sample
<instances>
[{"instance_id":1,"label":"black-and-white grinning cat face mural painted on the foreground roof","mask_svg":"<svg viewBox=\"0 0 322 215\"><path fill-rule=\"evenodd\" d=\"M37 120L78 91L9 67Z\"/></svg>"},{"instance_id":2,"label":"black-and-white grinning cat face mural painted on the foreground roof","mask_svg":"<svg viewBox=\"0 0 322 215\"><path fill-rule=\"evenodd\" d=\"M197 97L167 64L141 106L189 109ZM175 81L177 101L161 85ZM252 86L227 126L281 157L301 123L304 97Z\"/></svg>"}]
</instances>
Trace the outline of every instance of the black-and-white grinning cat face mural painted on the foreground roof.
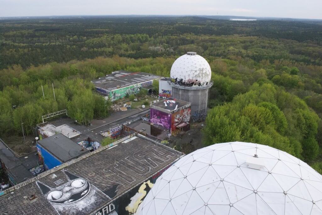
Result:
<instances>
[{"instance_id":1,"label":"black-and-white grinning cat face mural painted on the foreground roof","mask_svg":"<svg viewBox=\"0 0 322 215\"><path fill-rule=\"evenodd\" d=\"M89 214L94 207L108 202L116 195L115 191L111 192L111 196L101 192L93 184L90 184L90 181L74 175L66 169L62 169L61 172L63 173L60 174L61 177L54 178L52 182L36 181L45 199L58 214L66 214L67 211L70 214Z\"/></svg>"}]
</instances>

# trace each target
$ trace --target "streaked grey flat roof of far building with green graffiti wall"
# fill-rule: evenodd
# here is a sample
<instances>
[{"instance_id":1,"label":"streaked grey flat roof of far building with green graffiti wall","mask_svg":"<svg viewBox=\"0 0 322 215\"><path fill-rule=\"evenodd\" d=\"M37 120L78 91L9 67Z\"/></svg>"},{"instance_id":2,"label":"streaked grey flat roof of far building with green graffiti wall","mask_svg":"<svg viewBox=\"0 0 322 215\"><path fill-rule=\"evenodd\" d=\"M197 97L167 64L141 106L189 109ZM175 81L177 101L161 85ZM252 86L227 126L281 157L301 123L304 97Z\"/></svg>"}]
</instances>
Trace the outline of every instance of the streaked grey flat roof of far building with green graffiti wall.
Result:
<instances>
[{"instance_id":1,"label":"streaked grey flat roof of far building with green graffiti wall","mask_svg":"<svg viewBox=\"0 0 322 215\"><path fill-rule=\"evenodd\" d=\"M124 70L114 71L109 75L100 77L99 79L92 80L94 86L108 91L112 91L118 88L151 81L153 79L160 78L153 74L145 72L128 72ZM118 87L119 86L119 87Z\"/></svg>"}]
</instances>

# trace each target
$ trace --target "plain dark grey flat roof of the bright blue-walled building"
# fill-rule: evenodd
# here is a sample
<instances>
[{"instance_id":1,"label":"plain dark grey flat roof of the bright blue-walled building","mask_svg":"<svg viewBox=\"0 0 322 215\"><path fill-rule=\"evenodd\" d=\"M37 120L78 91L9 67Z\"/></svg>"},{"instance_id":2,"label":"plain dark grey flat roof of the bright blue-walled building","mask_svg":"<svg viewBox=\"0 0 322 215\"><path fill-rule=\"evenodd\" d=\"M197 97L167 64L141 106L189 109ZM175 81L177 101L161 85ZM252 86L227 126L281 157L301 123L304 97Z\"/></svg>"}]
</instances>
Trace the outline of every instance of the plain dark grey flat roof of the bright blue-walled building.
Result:
<instances>
[{"instance_id":1,"label":"plain dark grey flat roof of the bright blue-walled building","mask_svg":"<svg viewBox=\"0 0 322 215\"><path fill-rule=\"evenodd\" d=\"M60 133L38 140L37 142L63 162L69 161L88 152L87 149L81 150L82 147L80 145Z\"/></svg>"}]
</instances>

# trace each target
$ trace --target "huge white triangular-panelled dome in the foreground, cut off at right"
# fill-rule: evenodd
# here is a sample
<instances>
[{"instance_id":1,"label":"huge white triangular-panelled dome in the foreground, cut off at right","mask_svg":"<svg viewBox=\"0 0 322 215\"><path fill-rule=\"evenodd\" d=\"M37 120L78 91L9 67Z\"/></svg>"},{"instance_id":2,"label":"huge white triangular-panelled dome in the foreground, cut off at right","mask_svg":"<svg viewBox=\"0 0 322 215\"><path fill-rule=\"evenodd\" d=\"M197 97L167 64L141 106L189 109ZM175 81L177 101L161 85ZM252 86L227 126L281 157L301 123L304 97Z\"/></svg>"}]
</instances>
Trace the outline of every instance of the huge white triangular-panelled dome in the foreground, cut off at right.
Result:
<instances>
[{"instance_id":1,"label":"huge white triangular-panelled dome in the foreground, cut off at right","mask_svg":"<svg viewBox=\"0 0 322 215\"><path fill-rule=\"evenodd\" d=\"M168 168L137 214L322 214L322 175L269 146L215 144Z\"/></svg>"}]
</instances>

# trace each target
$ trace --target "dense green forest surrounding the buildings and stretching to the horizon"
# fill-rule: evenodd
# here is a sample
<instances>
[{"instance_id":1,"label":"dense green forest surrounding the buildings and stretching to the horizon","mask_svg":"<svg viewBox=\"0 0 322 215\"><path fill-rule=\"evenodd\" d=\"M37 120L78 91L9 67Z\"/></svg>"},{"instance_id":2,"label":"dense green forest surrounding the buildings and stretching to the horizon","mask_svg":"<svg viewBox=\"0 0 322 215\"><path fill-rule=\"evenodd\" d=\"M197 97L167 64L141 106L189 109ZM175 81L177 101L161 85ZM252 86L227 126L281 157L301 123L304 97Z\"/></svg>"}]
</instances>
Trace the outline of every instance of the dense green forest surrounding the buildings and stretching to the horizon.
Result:
<instances>
[{"instance_id":1,"label":"dense green forest surrounding the buildings and stretching to the horizon","mask_svg":"<svg viewBox=\"0 0 322 215\"><path fill-rule=\"evenodd\" d=\"M205 145L270 145L322 172L321 22L203 17L0 20L0 135L31 134L67 109L82 123L109 114L91 79L118 70L169 76L196 51L212 68ZM44 96L42 93L42 86ZM53 88L55 97L53 96Z\"/></svg>"}]
</instances>

